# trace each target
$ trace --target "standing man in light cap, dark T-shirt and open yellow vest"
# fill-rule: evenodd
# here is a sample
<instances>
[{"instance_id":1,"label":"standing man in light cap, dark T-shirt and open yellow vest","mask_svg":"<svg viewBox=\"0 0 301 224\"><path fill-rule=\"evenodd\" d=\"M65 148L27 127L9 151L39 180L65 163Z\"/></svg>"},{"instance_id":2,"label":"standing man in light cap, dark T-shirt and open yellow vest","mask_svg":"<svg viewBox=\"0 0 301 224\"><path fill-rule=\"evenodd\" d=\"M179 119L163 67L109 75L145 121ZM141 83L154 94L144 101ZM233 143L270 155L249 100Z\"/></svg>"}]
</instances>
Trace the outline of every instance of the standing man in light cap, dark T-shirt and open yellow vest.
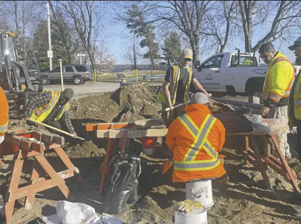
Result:
<instances>
[{"instance_id":1,"label":"standing man in light cap, dark T-shirt and open yellow vest","mask_svg":"<svg viewBox=\"0 0 301 224\"><path fill-rule=\"evenodd\" d=\"M164 83L157 95L157 99L162 102L162 109L172 108L178 104L189 101L189 87L192 83L200 92L209 94L195 78L195 74L189 67L193 59L193 52L184 49L181 53L180 61L177 65L170 66L166 72ZM183 115L185 106L178 107L170 112L162 113L164 122L169 125L178 116Z\"/></svg>"}]
</instances>

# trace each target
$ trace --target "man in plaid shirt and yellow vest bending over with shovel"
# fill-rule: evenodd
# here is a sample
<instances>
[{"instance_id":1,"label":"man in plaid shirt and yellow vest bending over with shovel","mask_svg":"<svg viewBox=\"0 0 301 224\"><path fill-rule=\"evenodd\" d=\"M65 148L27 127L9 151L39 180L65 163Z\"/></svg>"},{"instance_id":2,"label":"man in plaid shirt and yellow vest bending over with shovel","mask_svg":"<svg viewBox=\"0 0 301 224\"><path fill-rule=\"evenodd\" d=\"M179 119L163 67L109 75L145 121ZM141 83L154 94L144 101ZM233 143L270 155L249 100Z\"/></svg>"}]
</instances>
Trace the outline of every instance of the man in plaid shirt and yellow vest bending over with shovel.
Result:
<instances>
[{"instance_id":1,"label":"man in plaid shirt and yellow vest bending over with shovel","mask_svg":"<svg viewBox=\"0 0 301 224\"><path fill-rule=\"evenodd\" d=\"M41 95L31 98L24 113L24 119L44 122L50 126L62 129L58 120L62 119L67 131L77 138L77 134L74 131L72 123L69 118L69 101L73 97L73 89L66 88L63 92L60 91L48 91L45 90ZM51 132L56 132L49 129Z\"/></svg>"}]
</instances>

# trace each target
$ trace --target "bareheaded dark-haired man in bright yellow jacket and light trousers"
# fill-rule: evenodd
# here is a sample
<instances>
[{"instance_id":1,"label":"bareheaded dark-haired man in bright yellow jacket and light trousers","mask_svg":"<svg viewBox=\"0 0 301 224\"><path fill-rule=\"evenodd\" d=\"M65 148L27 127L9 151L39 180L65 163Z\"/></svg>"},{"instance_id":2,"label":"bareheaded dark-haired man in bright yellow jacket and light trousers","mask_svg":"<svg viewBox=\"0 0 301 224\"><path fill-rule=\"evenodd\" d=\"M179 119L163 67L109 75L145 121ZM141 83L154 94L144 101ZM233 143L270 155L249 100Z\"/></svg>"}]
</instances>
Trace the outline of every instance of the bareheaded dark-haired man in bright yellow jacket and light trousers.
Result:
<instances>
[{"instance_id":1,"label":"bareheaded dark-haired man in bright yellow jacket and light trousers","mask_svg":"<svg viewBox=\"0 0 301 224\"><path fill-rule=\"evenodd\" d=\"M276 52L272 43L264 43L259 48L260 58L269 64L262 98L265 107L261 115L279 118L280 124L288 124L288 101L294 81L294 68L289 59L280 51ZM286 158L291 158L287 135L280 135L280 150Z\"/></svg>"}]
</instances>

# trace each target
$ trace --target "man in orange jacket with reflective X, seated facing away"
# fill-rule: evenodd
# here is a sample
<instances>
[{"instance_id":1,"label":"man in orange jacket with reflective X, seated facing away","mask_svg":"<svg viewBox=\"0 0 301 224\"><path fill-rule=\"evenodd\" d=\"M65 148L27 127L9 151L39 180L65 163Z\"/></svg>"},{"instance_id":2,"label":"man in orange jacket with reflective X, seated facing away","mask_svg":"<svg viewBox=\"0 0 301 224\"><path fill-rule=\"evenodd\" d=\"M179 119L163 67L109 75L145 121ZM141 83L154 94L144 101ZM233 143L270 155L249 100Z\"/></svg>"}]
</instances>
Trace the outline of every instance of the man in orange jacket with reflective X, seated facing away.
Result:
<instances>
[{"instance_id":1,"label":"man in orange jacket with reflective X, seated facing away","mask_svg":"<svg viewBox=\"0 0 301 224\"><path fill-rule=\"evenodd\" d=\"M225 140L225 128L213 117L208 97L196 93L185 114L168 128L166 145L173 152L173 182L221 177L226 171L218 159Z\"/></svg>"}]
</instances>

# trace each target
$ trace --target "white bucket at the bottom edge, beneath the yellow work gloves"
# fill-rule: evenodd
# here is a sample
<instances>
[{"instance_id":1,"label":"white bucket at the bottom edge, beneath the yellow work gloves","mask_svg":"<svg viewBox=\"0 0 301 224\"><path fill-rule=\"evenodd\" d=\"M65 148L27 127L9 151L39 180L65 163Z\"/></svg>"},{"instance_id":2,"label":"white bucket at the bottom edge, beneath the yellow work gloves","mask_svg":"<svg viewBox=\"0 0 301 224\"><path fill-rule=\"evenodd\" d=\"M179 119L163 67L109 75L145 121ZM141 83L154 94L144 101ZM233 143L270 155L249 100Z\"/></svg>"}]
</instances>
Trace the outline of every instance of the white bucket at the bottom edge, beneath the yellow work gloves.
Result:
<instances>
[{"instance_id":1,"label":"white bucket at the bottom edge, beneath the yellow work gloves","mask_svg":"<svg viewBox=\"0 0 301 224\"><path fill-rule=\"evenodd\" d=\"M185 214L179 211L174 213L175 224L207 224L207 210L205 207L194 214Z\"/></svg>"}]
</instances>

